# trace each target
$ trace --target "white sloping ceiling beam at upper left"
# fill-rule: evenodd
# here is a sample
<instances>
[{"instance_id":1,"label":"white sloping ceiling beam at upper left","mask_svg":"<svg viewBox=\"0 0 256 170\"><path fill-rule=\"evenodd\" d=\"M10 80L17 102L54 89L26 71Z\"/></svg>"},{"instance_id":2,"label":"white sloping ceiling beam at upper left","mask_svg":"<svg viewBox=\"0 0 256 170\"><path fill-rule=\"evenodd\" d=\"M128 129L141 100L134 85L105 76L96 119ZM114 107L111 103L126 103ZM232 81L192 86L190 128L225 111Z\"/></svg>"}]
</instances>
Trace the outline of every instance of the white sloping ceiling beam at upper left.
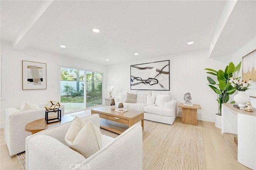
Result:
<instances>
[{"instance_id":1,"label":"white sloping ceiling beam at upper left","mask_svg":"<svg viewBox=\"0 0 256 170\"><path fill-rule=\"evenodd\" d=\"M42 30L53 23L70 6L70 1L62 1L61 5L54 0L42 1L38 10L28 19L20 34L13 41L13 49L24 49Z\"/></svg>"}]
</instances>

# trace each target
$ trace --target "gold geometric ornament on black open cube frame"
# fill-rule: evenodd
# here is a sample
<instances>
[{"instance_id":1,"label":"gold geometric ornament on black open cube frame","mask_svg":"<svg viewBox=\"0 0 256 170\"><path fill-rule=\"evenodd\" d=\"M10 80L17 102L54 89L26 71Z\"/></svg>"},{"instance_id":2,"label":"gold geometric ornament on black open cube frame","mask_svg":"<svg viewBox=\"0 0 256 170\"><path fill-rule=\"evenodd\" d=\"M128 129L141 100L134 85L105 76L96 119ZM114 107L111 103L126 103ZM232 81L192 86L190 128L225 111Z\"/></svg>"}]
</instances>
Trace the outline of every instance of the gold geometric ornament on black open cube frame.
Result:
<instances>
[{"instance_id":1,"label":"gold geometric ornament on black open cube frame","mask_svg":"<svg viewBox=\"0 0 256 170\"><path fill-rule=\"evenodd\" d=\"M44 108L46 109L45 110L45 121L46 121L46 124L61 121L61 109L60 109L60 103L59 102L50 100L44 106ZM54 113L57 112L57 117L49 119L48 118L48 113L50 113L50 112L54 112Z\"/></svg>"}]
</instances>

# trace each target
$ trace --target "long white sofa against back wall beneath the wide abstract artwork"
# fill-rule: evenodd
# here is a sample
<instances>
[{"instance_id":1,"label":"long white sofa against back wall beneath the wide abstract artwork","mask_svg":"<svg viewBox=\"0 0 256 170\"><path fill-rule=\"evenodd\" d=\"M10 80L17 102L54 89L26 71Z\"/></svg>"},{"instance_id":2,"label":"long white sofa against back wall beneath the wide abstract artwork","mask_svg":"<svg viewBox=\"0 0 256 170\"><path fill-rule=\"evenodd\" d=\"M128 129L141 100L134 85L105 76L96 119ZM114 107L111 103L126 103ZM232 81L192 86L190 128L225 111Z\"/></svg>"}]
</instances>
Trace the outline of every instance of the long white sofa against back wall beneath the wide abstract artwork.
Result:
<instances>
[{"instance_id":1,"label":"long white sofa against back wall beneath the wide abstract artwork","mask_svg":"<svg viewBox=\"0 0 256 170\"><path fill-rule=\"evenodd\" d=\"M127 93L137 94L136 103L125 102ZM162 106L153 106L147 104L148 94L150 94L150 96L156 96L156 98L158 97L158 94L167 95L168 99L166 102L162 102ZM171 96L169 91L129 90L125 92L118 92L114 100L116 107L119 103L123 103L124 109L144 111L144 119L146 120L172 125L177 117L177 101L173 96Z\"/></svg>"}]
</instances>

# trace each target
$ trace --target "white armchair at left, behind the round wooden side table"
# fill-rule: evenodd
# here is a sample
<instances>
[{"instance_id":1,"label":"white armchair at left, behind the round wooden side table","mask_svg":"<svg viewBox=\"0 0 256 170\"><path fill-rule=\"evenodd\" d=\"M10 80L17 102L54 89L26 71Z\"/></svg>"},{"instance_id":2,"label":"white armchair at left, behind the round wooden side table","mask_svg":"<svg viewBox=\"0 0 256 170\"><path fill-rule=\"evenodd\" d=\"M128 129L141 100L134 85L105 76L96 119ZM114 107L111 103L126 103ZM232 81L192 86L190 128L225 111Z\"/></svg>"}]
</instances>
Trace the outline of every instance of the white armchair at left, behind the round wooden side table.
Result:
<instances>
[{"instance_id":1,"label":"white armchair at left, behind the round wooden side table","mask_svg":"<svg viewBox=\"0 0 256 170\"><path fill-rule=\"evenodd\" d=\"M4 140L10 156L25 151L26 137L31 135L31 132L25 131L25 125L36 119L44 118L46 104L35 104L39 106L39 109L26 111L19 111L21 106L4 109ZM60 109L61 115L64 115L64 106L60 106Z\"/></svg>"}]
</instances>

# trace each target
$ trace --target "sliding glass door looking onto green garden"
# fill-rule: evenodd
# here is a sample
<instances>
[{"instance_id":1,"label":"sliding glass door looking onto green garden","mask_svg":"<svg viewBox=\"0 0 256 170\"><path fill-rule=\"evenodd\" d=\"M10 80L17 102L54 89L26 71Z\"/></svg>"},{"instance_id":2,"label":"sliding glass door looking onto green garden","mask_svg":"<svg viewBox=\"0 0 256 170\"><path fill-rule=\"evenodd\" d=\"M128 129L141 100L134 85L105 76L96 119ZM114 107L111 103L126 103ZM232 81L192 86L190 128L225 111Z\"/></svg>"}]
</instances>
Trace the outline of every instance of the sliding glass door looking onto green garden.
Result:
<instances>
[{"instance_id":1,"label":"sliding glass door looking onto green garden","mask_svg":"<svg viewBox=\"0 0 256 170\"><path fill-rule=\"evenodd\" d=\"M102 105L102 73L61 67L60 102L65 112Z\"/></svg>"}]
</instances>

